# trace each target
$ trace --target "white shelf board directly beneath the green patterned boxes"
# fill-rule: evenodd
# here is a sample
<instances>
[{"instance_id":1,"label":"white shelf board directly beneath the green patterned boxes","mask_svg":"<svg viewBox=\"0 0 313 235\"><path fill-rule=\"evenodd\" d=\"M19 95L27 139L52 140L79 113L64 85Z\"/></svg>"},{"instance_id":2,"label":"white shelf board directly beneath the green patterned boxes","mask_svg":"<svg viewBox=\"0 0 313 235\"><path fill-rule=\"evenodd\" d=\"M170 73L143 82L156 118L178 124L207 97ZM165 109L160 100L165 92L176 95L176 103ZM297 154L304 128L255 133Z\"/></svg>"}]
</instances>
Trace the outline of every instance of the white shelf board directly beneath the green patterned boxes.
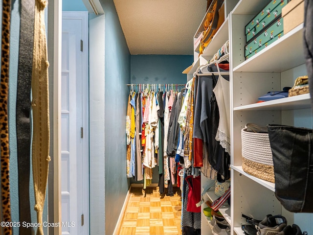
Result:
<instances>
[{"instance_id":1,"label":"white shelf board directly beneath the green patterned boxes","mask_svg":"<svg viewBox=\"0 0 313 235\"><path fill-rule=\"evenodd\" d=\"M303 24L233 69L234 72L282 72L305 63ZM290 46L294 45L294 46Z\"/></svg>"}]
</instances>

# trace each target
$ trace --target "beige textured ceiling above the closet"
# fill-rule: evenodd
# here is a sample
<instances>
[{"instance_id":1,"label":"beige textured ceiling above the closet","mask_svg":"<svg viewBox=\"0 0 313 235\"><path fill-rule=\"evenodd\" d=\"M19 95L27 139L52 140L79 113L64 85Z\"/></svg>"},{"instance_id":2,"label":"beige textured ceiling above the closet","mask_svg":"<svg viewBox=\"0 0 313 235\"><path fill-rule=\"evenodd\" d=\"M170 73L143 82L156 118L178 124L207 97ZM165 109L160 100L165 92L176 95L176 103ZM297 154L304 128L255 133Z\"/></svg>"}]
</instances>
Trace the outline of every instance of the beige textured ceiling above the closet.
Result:
<instances>
[{"instance_id":1,"label":"beige textured ceiling above the closet","mask_svg":"<svg viewBox=\"0 0 313 235\"><path fill-rule=\"evenodd\" d=\"M206 0L113 0L131 54L193 55Z\"/></svg>"}]
</instances>

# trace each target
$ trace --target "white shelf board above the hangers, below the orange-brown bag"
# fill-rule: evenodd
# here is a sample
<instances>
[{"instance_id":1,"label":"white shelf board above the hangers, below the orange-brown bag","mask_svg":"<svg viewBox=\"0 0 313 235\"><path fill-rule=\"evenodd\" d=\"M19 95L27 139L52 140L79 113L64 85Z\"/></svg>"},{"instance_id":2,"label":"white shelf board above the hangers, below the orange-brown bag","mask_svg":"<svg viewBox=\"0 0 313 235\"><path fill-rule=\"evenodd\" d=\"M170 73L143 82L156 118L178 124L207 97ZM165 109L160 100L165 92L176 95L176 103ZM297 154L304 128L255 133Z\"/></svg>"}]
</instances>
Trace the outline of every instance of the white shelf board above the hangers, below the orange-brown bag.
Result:
<instances>
[{"instance_id":1,"label":"white shelf board above the hangers, below the orange-brown bag","mask_svg":"<svg viewBox=\"0 0 313 235\"><path fill-rule=\"evenodd\" d=\"M218 50L228 40L229 38L228 37L228 21L229 21L229 16L226 17L226 19L224 20L224 23L221 25L219 30L215 33L211 42L204 49L201 56L204 57L206 60L210 60L214 56L214 54L216 54ZM207 58L207 57L210 57L210 58Z\"/></svg>"}]
</instances>

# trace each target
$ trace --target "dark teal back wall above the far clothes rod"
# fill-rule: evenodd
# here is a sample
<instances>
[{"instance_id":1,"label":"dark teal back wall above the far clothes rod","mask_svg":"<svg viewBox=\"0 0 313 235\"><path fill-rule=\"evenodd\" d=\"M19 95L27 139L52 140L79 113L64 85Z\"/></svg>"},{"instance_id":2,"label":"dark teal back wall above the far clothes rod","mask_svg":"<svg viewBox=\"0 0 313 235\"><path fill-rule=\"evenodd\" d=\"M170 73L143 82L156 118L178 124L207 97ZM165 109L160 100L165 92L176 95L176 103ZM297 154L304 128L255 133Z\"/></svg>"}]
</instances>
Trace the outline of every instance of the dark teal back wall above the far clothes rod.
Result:
<instances>
[{"instance_id":1,"label":"dark teal back wall above the far clothes rod","mask_svg":"<svg viewBox=\"0 0 313 235\"><path fill-rule=\"evenodd\" d=\"M185 84L182 74L193 62L191 55L132 55L131 83Z\"/></svg>"}]
</instances>

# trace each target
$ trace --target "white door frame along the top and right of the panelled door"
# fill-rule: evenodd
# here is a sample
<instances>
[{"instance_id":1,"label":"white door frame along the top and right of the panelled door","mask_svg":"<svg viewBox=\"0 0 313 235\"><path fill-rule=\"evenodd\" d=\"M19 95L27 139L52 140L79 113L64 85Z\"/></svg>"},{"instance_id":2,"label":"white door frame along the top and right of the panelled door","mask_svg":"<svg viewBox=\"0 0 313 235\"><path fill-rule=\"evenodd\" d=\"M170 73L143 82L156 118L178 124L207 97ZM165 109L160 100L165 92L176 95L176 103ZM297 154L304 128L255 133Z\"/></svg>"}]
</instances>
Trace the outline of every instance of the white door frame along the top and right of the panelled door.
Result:
<instances>
[{"instance_id":1,"label":"white door frame along the top and right of the panelled door","mask_svg":"<svg viewBox=\"0 0 313 235\"><path fill-rule=\"evenodd\" d=\"M83 157L82 191L84 211L84 235L89 235L89 13L87 11L62 11L62 19L82 21L82 126L83 126ZM61 96L59 97L61 99ZM87 203L84 203L87 202ZM80 226L80 224L75 225Z\"/></svg>"}]
</instances>

